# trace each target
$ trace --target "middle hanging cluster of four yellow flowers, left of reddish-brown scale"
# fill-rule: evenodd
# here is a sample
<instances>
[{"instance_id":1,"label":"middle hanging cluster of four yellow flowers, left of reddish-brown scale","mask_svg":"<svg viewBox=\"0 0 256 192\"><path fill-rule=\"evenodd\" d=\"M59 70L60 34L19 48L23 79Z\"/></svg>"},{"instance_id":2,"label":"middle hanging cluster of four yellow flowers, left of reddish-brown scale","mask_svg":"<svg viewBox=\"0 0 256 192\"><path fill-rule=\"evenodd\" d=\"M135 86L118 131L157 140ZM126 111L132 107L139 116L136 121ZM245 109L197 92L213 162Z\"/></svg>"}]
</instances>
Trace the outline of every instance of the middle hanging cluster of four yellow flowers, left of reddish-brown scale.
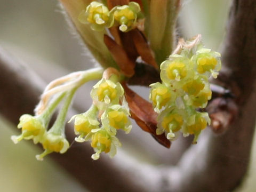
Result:
<instances>
[{"instance_id":1,"label":"middle hanging cluster of four yellow flowers, left of reddish-brown scale","mask_svg":"<svg viewBox=\"0 0 256 192\"><path fill-rule=\"evenodd\" d=\"M95 154L94 160L100 153L108 153L110 157L116 154L116 147L121 143L116 138L117 130L129 133L132 125L129 108L124 99L124 90L117 76L109 79L102 78L91 91L93 105L84 114L75 115L75 133L77 142L91 141Z\"/></svg>"}]
</instances>

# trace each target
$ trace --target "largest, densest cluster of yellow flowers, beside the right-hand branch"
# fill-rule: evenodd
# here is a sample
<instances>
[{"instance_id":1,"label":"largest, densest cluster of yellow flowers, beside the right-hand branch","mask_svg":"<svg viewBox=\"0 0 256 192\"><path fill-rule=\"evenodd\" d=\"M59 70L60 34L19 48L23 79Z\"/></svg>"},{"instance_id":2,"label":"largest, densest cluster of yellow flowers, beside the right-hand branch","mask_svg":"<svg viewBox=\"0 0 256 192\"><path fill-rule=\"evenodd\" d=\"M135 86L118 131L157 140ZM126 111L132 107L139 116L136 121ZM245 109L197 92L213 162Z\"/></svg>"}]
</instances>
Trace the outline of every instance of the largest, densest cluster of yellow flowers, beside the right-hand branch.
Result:
<instances>
[{"instance_id":1,"label":"largest, densest cluster of yellow flowers, beside the right-hand branch","mask_svg":"<svg viewBox=\"0 0 256 192\"><path fill-rule=\"evenodd\" d=\"M204 108L212 92L208 78L217 77L221 68L220 54L196 46L183 47L161 63L163 83L151 84L150 100L158 113L157 134L174 140L179 131L184 136L194 134L194 143L210 118L196 108Z\"/></svg>"}]
</instances>

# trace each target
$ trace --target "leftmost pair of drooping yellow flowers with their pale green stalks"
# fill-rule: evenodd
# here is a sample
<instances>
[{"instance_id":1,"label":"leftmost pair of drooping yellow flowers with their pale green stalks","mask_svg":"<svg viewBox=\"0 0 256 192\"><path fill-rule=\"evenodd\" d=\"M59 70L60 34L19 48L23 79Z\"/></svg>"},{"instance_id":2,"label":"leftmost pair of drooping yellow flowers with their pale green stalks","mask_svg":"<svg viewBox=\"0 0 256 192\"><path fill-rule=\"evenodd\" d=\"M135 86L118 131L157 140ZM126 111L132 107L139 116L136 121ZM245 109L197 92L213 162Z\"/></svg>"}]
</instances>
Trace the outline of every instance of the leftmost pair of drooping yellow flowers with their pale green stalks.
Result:
<instances>
[{"instance_id":1,"label":"leftmost pair of drooping yellow flowers with their pale green stalks","mask_svg":"<svg viewBox=\"0 0 256 192\"><path fill-rule=\"evenodd\" d=\"M74 92L75 90L68 92L68 94L62 93L54 98L42 114L36 116L28 114L22 115L20 117L20 123L18 124L18 128L21 129L21 134L18 136L13 135L11 137L13 142L18 143L22 139L32 139L35 144L41 143L44 152L40 155L36 155L36 158L40 161L43 160L45 155L52 152L65 153L69 148L69 142L65 137L65 118ZM47 130L56 107L65 95L67 98L66 102L63 104L61 112L52 127Z\"/></svg>"}]
</instances>

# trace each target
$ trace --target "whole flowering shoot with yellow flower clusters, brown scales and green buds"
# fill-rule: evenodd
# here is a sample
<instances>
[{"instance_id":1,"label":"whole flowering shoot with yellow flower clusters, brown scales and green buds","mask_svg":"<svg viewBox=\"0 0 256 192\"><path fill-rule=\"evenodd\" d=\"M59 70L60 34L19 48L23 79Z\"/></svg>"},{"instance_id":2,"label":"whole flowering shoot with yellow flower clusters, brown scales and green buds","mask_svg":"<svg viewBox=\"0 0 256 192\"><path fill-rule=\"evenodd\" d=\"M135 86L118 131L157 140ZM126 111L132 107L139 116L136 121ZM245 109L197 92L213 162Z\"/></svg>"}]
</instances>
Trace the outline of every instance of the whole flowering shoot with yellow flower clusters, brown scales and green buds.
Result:
<instances>
[{"instance_id":1,"label":"whole flowering shoot with yellow flower clusters, brown scales and green buds","mask_svg":"<svg viewBox=\"0 0 256 192\"><path fill-rule=\"evenodd\" d=\"M41 143L44 152L36 156L38 160L53 152L65 153L70 147L65 125L71 101L79 87L96 80L91 107L69 121L74 122L74 140L91 143L92 159L102 153L115 156L121 147L118 132L131 131L130 118L164 147L169 148L180 133L193 135L196 143L210 125L209 115L202 111L212 97L209 78L217 78L221 61L218 52L204 48L201 35L180 39L174 49L180 1L60 2L102 67L77 71L47 85L35 115L21 116L21 134L12 140ZM127 84L149 85L150 102Z\"/></svg>"}]
</instances>

